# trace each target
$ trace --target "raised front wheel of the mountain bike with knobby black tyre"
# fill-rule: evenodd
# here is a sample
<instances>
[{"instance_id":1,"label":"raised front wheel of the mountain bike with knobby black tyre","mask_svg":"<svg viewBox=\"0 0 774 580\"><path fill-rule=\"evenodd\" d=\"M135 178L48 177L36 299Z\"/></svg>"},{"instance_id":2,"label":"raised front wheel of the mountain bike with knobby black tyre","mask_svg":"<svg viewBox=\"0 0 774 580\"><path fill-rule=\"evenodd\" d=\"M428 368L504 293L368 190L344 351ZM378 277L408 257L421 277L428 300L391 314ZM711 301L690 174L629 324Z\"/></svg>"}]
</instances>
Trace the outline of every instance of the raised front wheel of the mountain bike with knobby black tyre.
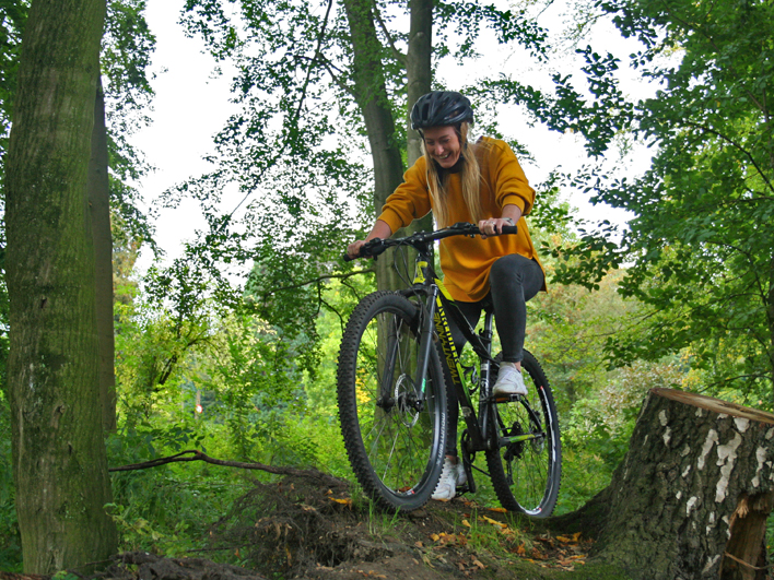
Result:
<instances>
[{"instance_id":1,"label":"raised front wheel of the mountain bike with knobby black tyre","mask_svg":"<svg viewBox=\"0 0 774 580\"><path fill-rule=\"evenodd\" d=\"M417 384L419 308L390 292L366 296L341 339L338 399L350 463L386 509L423 506L441 477L446 388L435 348Z\"/></svg>"}]
</instances>

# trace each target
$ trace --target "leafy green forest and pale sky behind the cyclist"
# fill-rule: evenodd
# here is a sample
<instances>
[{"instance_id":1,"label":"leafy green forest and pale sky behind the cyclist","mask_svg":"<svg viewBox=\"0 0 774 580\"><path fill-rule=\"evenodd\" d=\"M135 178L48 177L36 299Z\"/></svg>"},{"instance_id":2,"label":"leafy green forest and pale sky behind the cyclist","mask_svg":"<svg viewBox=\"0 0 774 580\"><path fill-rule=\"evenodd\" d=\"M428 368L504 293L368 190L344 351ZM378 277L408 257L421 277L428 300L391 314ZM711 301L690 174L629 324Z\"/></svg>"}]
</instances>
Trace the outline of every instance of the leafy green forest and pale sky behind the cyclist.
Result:
<instances>
[{"instance_id":1,"label":"leafy green forest and pale sky behind the cyclist","mask_svg":"<svg viewBox=\"0 0 774 580\"><path fill-rule=\"evenodd\" d=\"M190 159L190 176L151 200L138 184L155 162L132 135L154 97L155 38L144 2L108 3L101 62L118 417L109 465L200 448L351 477L333 395L338 342L359 297L389 281L340 256L390 189L372 157L374 102L391 122L397 165L411 157L409 9L418 4L181 4L180 25L233 75L232 103L206 159ZM28 8L0 7L7 133ZM653 387L774 410L774 8L586 2L566 7L561 31L546 27L547 10L433 3L425 82L470 95L477 130L506 139L528 175L539 166L530 230L550 292L530 301L528 347L560 409L558 511L567 512L608 483ZM599 26L629 43L595 36ZM366 33L378 73L363 67ZM479 67L495 42L505 63ZM482 72L460 85L459 67ZM584 164L568 170L538 157L506 107L558 141L572 135ZM648 159L642 170L632 154ZM631 218L578 223L572 202L583 196ZM201 226L165 259L156 232L185 218L164 212L191 201ZM141 250L154 260L138 271ZM0 569L21 570L4 286L2 298ZM203 546L208 525L250 486L194 465L114 475L112 485L121 548L169 555ZM477 499L495 501L485 485Z\"/></svg>"}]
</instances>

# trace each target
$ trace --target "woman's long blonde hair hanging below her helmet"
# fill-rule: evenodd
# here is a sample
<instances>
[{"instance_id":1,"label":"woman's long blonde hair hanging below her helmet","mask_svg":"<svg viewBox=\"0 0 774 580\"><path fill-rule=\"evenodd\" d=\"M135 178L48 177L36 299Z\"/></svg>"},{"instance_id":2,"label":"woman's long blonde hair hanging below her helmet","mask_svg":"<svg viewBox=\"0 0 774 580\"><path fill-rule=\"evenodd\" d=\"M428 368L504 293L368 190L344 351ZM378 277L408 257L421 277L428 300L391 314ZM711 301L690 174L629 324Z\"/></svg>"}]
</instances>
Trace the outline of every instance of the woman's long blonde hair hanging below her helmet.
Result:
<instances>
[{"instance_id":1,"label":"woman's long blonde hair hanging below her helmet","mask_svg":"<svg viewBox=\"0 0 774 580\"><path fill-rule=\"evenodd\" d=\"M459 138L460 155L465 158L459 180L462 188L462 198L470 212L471 220L473 223L478 223L485 217L481 208L481 167L479 166L479 161L476 158L474 151L481 146L481 143L470 143L468 141L469 131L470 123L467 121L460 123L459 130L456 131ZM427 147L424 145L424 139L422 140L422 152L424 153L424 159L427 165L427 187L430 189L430 198L433 202L435 223L438 227L449 226L452 224L448 223L448 192L445 182L448 180L448 174L445 175L445 179L443 179L442 182L438 169L433 158L430 156Z\"/></svg>"}]
</instances>

